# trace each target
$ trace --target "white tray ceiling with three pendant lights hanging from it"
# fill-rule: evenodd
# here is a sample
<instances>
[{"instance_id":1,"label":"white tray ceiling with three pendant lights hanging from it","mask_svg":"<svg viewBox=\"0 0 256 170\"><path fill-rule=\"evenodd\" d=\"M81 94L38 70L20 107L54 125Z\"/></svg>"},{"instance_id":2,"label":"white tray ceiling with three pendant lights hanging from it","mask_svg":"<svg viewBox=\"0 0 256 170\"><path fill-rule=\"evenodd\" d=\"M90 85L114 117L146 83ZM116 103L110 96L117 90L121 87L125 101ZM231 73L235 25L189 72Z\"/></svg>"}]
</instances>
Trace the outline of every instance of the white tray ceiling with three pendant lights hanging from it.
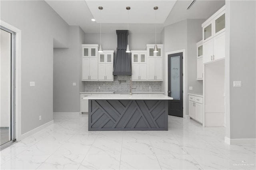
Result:
<instances>
[{"instance_id":1,"label":"white tray ceiling with three pendant lights hanging from it","mask_svg":"<svg viewBox=\"0 0 256 170\"><path fill-rule=\"evenodd\" d=\"M164 26L189 18L208 18L224 5L225 0L45 0L69 25L80 26L85 33L100 32L99 20L102 6L102 33L126 30L129 10L131 33L154 33ZM158 6L156 11L154 6ZM91 19L95 18L96 22Z\"/></svg>"}]
</instances>

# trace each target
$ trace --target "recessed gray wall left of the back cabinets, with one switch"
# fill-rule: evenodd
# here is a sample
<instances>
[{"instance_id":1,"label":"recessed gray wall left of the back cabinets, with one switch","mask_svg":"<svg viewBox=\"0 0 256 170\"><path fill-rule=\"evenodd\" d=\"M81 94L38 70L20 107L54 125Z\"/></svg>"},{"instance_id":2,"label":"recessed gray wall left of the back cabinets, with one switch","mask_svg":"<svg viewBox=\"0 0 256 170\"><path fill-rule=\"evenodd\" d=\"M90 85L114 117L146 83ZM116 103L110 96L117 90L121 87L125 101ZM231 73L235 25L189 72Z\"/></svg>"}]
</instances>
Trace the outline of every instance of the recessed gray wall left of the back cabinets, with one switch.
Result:
<instances>
[{"instance_id":1,"label":"recessed gray wall left of the back cabinets, with one switch","mask_svg":"<svg viewBox=\"0 0 256 170\"><path fill-rule=\"evenodd\" d=\"M54 48L53 112L80 112L81 44L84 32L79 26L69 28L69 48ZM72 84L76 83L76 86Z\"/></svg>"}]
</instances>

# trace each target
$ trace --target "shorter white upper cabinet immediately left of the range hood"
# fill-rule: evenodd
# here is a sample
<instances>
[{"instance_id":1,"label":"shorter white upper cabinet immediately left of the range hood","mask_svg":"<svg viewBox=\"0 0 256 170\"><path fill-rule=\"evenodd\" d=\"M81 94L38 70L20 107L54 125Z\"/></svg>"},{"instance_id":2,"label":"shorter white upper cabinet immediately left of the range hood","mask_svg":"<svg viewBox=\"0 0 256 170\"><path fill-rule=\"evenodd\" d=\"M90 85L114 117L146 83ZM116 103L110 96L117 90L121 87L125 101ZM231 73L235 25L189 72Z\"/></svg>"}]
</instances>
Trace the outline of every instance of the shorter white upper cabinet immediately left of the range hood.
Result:
<instances>
[{"instance_id":1,"label":"shorter white upper cabinet immediately left of the range hood","mask_svg":"<svg viewBox=\"0 0 256 170\"><path fill-rule=\"evenodd\" d=\"M113 81L114 50L98 53L98 81Z\"/></svg>"}]
</instances>

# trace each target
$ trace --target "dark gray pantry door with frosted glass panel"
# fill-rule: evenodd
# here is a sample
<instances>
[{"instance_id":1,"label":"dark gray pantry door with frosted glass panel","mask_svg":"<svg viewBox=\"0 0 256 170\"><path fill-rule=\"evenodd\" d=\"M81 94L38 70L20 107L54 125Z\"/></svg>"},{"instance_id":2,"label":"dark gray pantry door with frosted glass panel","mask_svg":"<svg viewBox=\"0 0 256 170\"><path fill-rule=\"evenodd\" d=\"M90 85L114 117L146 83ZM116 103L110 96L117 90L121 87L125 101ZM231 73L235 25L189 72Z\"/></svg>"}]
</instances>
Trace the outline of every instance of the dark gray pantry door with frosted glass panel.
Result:
<instances>
[{"instance_id":1,"label":"dark gray pantry door with frosted glass panel","mask_svg":"<svg viewBox=\"0 0 256 170\"><path fill-rule=\"evenodd\" d=\"M183 117L183 53L168 55L168 115Z\"/></svg>"}]
</instances>

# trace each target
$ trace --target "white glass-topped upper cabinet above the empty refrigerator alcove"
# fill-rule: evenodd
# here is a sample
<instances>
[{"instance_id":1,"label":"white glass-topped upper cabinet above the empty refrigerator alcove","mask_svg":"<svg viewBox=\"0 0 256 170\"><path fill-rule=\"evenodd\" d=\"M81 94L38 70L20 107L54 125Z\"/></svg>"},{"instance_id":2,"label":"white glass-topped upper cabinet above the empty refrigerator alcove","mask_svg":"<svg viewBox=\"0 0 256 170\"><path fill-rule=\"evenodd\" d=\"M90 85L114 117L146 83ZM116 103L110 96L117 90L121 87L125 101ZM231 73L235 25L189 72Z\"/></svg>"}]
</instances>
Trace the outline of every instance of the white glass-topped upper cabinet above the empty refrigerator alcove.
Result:
<instances>
[{"instance_id":1,"label":"white glass-topped upper cabinet above the empty refrigerator alcove","mask_svg":"<svg viewBox=\"0 0 256 170\"><path fill-rule=\"evenodd\" d=\"M203 63L225 58L225 6L206 22L203 28Z\"/></svg>"}]
</instances>

